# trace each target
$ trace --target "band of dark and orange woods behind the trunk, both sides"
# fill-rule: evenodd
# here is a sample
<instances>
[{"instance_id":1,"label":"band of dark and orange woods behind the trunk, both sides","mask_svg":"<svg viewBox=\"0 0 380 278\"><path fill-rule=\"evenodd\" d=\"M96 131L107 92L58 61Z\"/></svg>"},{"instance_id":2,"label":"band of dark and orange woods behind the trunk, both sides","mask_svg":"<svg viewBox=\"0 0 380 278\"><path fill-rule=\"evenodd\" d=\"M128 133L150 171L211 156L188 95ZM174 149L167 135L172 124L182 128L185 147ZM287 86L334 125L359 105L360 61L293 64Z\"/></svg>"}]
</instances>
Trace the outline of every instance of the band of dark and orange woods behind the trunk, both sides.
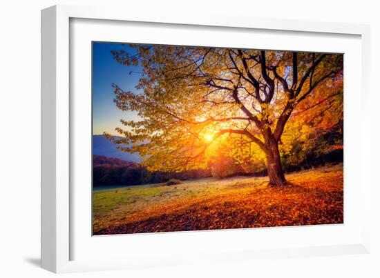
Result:
<instances>
[{"instance_id":1,"label":"band of dark and orange woods behind the trunk, both sides","mask_svg":"<svg viewBox=\"0 0 380 278\"><path fill-rule=\"evenodd\" d=\"M304 143L295 142L289 155L281 156L285 172L295 172L324 166L328 163L343 162L343 121L322 134L316 134ZM93 155L93 186L131 186L144 183L162 183L169 179L200 179L204 177L230 177L234 175L267 175L265 161L236 163L231 157L219 155L209 163L207 170L188 170L184 172L150 172L139 163L122 159Z\"/></svg>"}]
</instances>

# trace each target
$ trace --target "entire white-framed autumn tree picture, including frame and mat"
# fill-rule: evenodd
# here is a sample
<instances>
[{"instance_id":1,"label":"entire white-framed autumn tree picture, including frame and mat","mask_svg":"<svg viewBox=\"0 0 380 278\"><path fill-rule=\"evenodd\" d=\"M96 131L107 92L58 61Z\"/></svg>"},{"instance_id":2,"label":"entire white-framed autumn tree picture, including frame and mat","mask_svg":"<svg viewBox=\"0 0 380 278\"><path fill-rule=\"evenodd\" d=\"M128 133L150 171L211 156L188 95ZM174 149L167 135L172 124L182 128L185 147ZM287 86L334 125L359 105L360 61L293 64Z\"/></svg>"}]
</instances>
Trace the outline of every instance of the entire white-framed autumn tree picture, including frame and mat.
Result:
<instances>
[{"instance_id":1,"label":"entire white-framed autumn tree picture, including frame and mat","mask_svg":"<svg viewBox=\"0 0 380 278\"><path fill-rule=\"evenodd\" d=\"M42 266L368 252L368 26L161 16L42 11Z\"/></svg>"}]
</instances>

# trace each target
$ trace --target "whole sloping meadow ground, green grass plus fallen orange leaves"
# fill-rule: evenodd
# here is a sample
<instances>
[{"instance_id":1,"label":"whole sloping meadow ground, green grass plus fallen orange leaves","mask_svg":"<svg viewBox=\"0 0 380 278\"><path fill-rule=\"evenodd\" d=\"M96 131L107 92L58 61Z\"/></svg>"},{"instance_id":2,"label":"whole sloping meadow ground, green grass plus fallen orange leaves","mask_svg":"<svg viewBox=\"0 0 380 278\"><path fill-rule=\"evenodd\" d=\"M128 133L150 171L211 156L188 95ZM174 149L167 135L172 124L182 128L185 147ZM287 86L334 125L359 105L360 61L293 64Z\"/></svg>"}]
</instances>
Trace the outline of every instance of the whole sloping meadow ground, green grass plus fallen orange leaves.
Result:
<instances>
[{"instance_id":1,"label":"whole sloping meadow ground, green grass plus fallen orange leaves","mask_svg":"<svg viewBox=\"0 0 380 278\"><path fill-rule=\"evenodd\" d=\"M211 138L212 140L212 138ZM94 235L343 223L343 166L93 192Z\"/></svg>"}]
</instances>

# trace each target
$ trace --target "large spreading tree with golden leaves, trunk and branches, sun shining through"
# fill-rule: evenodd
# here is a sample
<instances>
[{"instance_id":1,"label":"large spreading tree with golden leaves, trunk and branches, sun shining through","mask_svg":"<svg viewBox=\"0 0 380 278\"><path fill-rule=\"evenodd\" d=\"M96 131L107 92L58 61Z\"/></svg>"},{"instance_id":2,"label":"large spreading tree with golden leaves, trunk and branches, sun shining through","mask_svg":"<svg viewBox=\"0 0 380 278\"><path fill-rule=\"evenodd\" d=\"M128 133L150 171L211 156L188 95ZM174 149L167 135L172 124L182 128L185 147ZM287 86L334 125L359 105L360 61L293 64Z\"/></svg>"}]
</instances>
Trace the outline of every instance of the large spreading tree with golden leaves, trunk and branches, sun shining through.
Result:
<instances>
[{"instance_id":1,"label":"large spreading tree with golden leaves, trunk and branches, sun shining through","mask_svg":"<svg viewBox=\"0 0 380 278\"><path fill-rule=\"evenodd\" d=\"M289 118L312 111L323 117L333 101L342 103L342 54L132 47L112 53L124 65L142 66L140 90L113 88L117 107L141 120L122 120L123 137L113 140L140 153L150 170L206 168L218 146L238 148L234 142L243 139L265 154L269 183L284 185L278 146Z\"/></svg>"}]
</instances>

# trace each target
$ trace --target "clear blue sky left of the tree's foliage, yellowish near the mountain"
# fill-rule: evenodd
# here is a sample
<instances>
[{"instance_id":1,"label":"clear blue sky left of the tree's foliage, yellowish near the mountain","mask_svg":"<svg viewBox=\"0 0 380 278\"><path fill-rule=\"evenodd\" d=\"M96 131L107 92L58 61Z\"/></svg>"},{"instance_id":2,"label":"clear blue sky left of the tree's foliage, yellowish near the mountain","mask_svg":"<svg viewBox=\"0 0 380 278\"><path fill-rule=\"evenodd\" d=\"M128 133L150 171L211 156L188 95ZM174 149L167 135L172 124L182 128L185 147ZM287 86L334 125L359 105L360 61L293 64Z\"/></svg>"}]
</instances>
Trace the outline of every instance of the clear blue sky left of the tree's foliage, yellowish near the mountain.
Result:
<instances>
[{"instance_id":1,"label":"clear blue sky left of the tree's foliage, yellowish near the mountain","mask_svg":"<svg viewBox=\"0 0 380 278\"><path fill-rule=\"evenodd\" d=\"M112 83L122 90L136 91L140 74L140 66L124 66L113 59L111 50L124 49L130 53L135 50L121 43L93 42L93 135L103 132L116 135L115 128L122 127L120 119L138 119L137 113L122 111L115 106Z\"/></svg>"}]
</instances>

